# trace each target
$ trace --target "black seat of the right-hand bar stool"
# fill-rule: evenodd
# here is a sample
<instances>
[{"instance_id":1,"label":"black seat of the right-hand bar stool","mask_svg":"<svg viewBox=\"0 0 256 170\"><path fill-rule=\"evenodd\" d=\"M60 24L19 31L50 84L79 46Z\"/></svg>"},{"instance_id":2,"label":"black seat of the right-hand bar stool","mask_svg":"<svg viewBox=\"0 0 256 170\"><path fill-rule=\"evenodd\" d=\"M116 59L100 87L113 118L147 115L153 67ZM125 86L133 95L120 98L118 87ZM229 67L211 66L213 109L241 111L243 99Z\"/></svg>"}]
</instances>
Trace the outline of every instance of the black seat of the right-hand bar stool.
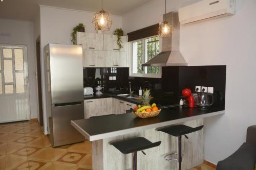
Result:
<instances>
[{"instance_id":1,"label":"black seat of the right-hand bar stool","mask_svg":"<svg viewBox=\"0 0 256 170\"><path fill-rule=\"evenodd\" d=\"M162 131L162 132L168 133L173 136L182 136L182 135L186 135L188 133L199 131L203 127L204 127L203 125L196 127L196 128L191 128L186 125L175 125L175 126L158 129L158 131Z\"/></svg>"}]
</instances>

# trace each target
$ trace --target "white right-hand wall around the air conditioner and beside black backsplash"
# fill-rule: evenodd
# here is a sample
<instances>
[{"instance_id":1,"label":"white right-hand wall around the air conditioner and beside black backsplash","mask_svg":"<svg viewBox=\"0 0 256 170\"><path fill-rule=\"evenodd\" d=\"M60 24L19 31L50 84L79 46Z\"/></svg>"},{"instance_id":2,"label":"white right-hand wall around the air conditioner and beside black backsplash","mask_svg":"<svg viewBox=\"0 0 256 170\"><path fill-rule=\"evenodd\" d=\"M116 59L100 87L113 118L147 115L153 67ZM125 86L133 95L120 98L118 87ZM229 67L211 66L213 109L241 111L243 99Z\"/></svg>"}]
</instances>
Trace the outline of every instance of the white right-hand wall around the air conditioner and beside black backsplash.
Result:
<instances>
[{"instance_id":1,"label":"white right-hand wall around the air conditioner and beside black backsplash","mask_svg":"<svg viewBox=\"0 0 256 170\"><path fill-rule=\"evenodd\" d=\"M167 12L191 2L167 0ZM256 125L256 1L237 0L234 16L180 27L180 51L189 65L227 65L226 114L205 122L205 159L217 164L245 141ZM123 16L125 32L162 21L158 0Z\"/></svg>"}]
</instances>

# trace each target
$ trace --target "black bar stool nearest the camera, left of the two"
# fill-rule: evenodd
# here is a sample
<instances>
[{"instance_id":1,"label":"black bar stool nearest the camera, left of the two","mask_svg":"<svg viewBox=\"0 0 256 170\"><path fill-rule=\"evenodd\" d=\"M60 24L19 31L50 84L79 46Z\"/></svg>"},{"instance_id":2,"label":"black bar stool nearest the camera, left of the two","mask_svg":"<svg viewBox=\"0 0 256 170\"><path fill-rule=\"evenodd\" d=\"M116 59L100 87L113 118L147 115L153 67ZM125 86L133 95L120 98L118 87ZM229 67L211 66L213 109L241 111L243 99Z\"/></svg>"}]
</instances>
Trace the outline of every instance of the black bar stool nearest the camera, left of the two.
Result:
<instances>
[{"instance_id":1,"label":"black bar stool nearest the camera, left of the two","mask_svg":"<svg viewBox=\"0 0 256 170\"><path fill-rule=\"evenodd\" d=\"M110 144L114 145L114 147L123 154L132 153L132 169L137 170L137 152L141 151L144 155L146 155L142 150L158 147L161 144L161 141L152 143L144 137L135 137L116 141Z\"/></svg>"}]
</instances>

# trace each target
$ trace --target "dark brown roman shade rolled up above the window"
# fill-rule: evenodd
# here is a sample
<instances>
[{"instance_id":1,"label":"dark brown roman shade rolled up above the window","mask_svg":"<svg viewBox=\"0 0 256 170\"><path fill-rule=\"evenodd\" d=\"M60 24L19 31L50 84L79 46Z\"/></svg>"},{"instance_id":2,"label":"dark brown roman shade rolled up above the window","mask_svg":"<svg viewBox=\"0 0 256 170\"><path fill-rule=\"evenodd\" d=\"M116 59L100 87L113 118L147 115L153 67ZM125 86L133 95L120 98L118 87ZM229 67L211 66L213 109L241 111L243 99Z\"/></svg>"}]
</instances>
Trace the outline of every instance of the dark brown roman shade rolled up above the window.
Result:
<instances>
[{"instance_id":1,"label":"dark brown roman shade rolled up above the window","mask_svg":"<svg viewBox=\"0 0 256 170\"><path fill-rule=\"evenodd\" d=\"M137 39L158 35L158 28L159 28L159 23L153 26L149 26L140 30L127 33L128 41L134 41Z\"/></svg>"}]
</instances>

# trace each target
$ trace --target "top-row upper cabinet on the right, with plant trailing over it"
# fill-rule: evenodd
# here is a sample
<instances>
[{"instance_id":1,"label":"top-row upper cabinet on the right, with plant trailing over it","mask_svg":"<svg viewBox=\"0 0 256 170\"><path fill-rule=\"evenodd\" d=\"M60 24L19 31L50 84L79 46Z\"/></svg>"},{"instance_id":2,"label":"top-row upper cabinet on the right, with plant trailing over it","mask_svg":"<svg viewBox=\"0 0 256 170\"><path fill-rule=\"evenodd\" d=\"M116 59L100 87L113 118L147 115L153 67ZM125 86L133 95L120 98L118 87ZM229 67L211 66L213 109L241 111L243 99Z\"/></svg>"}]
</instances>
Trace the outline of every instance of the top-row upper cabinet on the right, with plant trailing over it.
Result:
<instances>
[{"instance_id":1,"label":"top-row upper cabinet on the right, with plant trailing over it","mask_svg":"<svg viewBox=\"0 0 256 170\"><path fill-rule=\"evenodd\" d=\"M127 37L122 37L122 48L119 50L119 46L117 44L117 36L104 34L104 51L117 51L117 52L126 52L127 50Z\"/></svg>"}]
</instances>

